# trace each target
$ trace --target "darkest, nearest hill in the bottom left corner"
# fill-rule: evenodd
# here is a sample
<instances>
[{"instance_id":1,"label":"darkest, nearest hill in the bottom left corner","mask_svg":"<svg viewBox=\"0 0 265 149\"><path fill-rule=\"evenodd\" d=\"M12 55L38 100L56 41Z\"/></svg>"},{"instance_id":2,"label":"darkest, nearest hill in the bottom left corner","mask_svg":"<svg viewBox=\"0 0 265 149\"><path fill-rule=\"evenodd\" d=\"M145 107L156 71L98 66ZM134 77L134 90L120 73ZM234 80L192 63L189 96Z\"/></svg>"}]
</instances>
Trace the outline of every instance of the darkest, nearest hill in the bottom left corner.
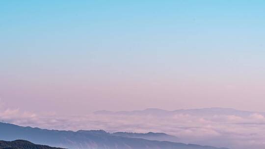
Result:
<instances>
[{"instance_id":1,"label":"darkest, nearest hill in the bottom left corner","mask_svg":"<svg viewBox=\"0 0 265 149\"><path fill-rule=\"evenodd\" d=\"M36 145L26 140L0 141L0 149L62 149Z\"/></svg>"}]
</instances>

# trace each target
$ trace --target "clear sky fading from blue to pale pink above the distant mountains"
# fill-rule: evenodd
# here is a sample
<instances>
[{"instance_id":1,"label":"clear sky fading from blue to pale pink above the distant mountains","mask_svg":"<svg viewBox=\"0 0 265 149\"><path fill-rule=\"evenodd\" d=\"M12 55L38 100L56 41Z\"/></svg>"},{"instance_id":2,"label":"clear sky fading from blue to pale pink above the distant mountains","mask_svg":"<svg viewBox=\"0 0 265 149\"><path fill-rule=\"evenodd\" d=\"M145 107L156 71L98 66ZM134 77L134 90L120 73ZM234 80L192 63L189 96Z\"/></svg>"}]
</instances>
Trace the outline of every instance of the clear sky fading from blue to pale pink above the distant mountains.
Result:
<instances>
[{"instance_id":1,"label":"clear sky fading from blue to pale pink above the distant mountains","mask_svg":"<svg viewBox=\"0 0 265 149\"><path fill-rule=\"evenodd\" d=\"M1 0L10 108L265 111L264 0Z\"/></svg>"}]
</instances>

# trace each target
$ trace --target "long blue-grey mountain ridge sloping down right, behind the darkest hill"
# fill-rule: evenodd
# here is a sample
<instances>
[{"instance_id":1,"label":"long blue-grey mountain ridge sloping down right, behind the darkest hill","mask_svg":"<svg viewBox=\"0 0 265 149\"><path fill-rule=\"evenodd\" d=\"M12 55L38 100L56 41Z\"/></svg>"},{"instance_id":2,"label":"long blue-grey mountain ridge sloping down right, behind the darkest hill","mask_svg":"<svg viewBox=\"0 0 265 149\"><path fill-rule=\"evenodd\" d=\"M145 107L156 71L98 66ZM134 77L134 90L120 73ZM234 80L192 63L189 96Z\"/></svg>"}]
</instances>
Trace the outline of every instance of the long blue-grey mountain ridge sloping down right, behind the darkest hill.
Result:
<instances>
[{"instance_id":1,"label":"long blue-grey mountain ridge sloping down right, behind the darkest hill","mask_svg":"<svg viewBox=\"0 0 265 149\"><path fill-rule=\"evenodd\" d=\"M0 140L12 141L17 139L68 149L221 149L117 136L104 130L79 130L74 132L0 123Z\"/></svg>"}]
</instances>

